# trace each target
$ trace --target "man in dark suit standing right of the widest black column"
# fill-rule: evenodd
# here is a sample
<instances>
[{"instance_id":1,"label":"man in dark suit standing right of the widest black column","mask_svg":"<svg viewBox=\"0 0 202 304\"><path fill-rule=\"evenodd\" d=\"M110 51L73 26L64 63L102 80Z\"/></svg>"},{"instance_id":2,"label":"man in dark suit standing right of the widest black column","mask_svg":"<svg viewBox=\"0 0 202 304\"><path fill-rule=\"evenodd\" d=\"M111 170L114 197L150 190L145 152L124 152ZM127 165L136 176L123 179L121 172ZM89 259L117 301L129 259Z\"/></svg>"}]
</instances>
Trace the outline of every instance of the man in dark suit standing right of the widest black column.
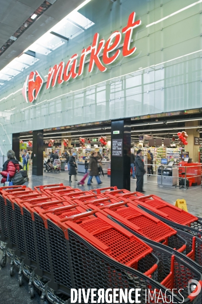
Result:
<instances>
[{"instance_id":1,"label":"man in dark suit standing right of the widest black column","mask_svg":"<svg viewBox=\"0 0 202 304\"><path fill-rule=\"evenodd\" d=\"M136 191L144 193L145 191L143 191L143 177L145 174L145 170L141 156L142 156L142 151L138 150L135 158L135 175L137 177Z\"/></svg>"}]
</instances>

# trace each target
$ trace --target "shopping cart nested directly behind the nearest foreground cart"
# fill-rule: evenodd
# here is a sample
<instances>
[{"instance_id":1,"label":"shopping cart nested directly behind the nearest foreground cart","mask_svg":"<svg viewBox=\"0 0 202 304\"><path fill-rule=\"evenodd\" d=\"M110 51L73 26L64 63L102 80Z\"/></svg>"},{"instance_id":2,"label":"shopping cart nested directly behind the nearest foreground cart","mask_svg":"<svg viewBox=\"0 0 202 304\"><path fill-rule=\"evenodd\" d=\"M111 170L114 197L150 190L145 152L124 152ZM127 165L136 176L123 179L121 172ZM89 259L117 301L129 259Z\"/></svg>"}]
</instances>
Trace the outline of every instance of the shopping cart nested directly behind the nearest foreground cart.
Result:
<instances>
[{"instance_id":1,"label":"shopping cart nested directly behind the nearest foreground cart","mask_svg":"<svg viewBox=\"0 0 202 304\"><path fill-rule=\"evenodd\" d=\"M49 210L41 209L39 206L34 207L34 216L37 214L43 221L43 226L40 225L37 235L43 235L44 231L46 234L51 281L47 282L45 293L52 303L55 303L56 299L58 299L57 303L64 303L64 298L69 298L73 287L65 236L57 225L58 220L83 212L79 205L73 204L73 201L66 201L66 206L52 207ZM49 217L46 214L51 215L53 221L48 221ZM60 296L59 292L62 293Z\"/></svg>"}]
</instances>

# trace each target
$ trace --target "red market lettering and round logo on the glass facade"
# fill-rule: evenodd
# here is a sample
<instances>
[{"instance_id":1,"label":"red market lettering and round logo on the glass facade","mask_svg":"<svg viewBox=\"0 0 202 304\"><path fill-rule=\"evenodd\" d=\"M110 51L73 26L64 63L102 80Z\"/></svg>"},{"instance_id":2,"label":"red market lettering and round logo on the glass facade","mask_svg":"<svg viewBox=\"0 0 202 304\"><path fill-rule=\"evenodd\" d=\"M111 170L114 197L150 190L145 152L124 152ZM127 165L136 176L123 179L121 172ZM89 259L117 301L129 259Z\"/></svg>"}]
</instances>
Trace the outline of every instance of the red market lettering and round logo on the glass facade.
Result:
<instances>
[{"instance_id":1,"label":"red market lettering and round logo on the glass facade","mask_svg":"<svg viewBox=\"0 0 202 304\"><path fill-rule=\"evenodd\" d=\"M133 29L139 26L140 24L141 20L135 21L135 12L131 13L128 18L128 24L122 29L122 33L125 35L122 49L123 57L131 56L136 51L136 47L130 49L130 43ZM121 51L118 49L121 42L121 37L121 32L117 30L110 35L109 39L105 43L105 40L99 40L99 34L95 33L92 45L90 45L86 49L83 49L81 53L78 69L78 54L72 55L66 65L65 62L62 61L60 64L55 64L54 67L51 67L49 69L46 89L49 89L50 87L55 87L56 83L61 85L64 81L67 82L70 79L75 79L78 76L82 75L86 56L89 54L90 60L88 72L92 72L94 65L96 65L100 71L105 72L107 70L107 67L104 64L109 65L113 63L121 53ZM116 52L113 52L115 50ZM112 52L113 54L110 54ZM103 56L103 62L99 58L101 55ZM26 102L33 102L34 100L36 100L43 86L43 83L44 81L37 71L32 71L27 76L27 79L22 89L22 94Z\"/></svg>"}]
</instances>

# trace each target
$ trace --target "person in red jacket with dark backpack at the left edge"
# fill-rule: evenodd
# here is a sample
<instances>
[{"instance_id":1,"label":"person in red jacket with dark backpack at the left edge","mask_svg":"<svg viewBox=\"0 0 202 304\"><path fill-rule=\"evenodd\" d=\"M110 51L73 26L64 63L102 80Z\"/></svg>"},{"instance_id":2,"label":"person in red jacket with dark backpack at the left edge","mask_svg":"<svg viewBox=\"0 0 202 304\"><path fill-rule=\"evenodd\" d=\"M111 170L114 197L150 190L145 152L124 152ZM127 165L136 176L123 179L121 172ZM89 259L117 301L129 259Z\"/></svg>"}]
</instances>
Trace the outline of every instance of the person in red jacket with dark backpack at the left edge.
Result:
<instances>
[{"instance_id":1,"label":"person in red jacket with dark backpack at the left edge","mask_svg":"<svg viewBox=\"0 0 202 304\"><path fill-rule=\"evenodd\" d=\"M8 150L7 157L8 161L4 163L3 171L0 171L0 174L3 176L1 183L5 183L5 181L7 181L8 174L9 177L12 178L14 177L16 170L20 171L19 161L15 159L15 152L13 150Z\"/></svg>"}]
</instances>

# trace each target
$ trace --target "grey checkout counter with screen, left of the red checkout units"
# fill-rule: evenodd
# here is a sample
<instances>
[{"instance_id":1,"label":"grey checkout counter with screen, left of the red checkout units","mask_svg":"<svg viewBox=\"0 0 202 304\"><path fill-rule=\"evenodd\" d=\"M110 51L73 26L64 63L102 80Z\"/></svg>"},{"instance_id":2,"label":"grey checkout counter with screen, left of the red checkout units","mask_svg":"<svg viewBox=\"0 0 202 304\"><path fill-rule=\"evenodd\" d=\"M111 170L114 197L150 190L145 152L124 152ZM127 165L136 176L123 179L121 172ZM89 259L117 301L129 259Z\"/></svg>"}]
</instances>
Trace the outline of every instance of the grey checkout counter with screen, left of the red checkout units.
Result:
<instances>
[{"instance_id":1,"label":"grey checkout counter with screen, left of the red checkout units","mask_svg":"<svg viewBox=\"0 0 202 304\"><path fill-rule=\"evenodd\" d=\"M178 183L178 168L173 167L174 162L168 159L161 160L161 166L158 168L157 182L159 185L174 186ZM162 175L162 176L161 176Z\"/></svg>"}]
</instances>

